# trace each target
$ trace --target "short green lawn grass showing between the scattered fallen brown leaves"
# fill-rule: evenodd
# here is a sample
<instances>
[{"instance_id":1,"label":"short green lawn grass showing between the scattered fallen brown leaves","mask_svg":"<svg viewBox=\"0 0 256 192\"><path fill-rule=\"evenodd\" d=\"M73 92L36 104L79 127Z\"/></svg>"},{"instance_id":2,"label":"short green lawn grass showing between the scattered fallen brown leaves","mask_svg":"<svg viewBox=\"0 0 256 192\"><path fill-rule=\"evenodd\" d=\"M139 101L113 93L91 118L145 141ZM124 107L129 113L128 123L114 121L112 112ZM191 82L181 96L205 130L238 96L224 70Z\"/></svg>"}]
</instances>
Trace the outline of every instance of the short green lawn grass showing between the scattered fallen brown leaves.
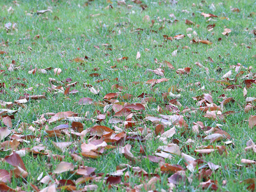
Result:
<instances>
[{"instance_id":1,"label":"short green lawn grass showing between the scattered fallen brown leaves","mask_svg":"<svg viewBox=\"0 0 256 192\"><path fill-rule=\"evenodd\" d=\"M196 159L204 159L205 162L211 162L218 164L221 167L212 172L212 175L206 179L198 179L200 172L196 170L191 173L186 169L185 161L181 156L173 156L172 160L165 159L166 163L180 164L184 169L186 177L191 178L191 183L178 184L173 191L202 191L200 188L200 182L205 182L208 179L216 180L218 182L218 191L246 191L249 184L240 184L239 182L244 179L255 177L255 164L243 166L239 168L237 164L241 164L241 159L255 159L254 152L245 152L246 142L251 138L256 141L255 129L248 127L248 119L251 115L255 115L255 111L249 111L244 113L244 106L246 105L245 97L243 97L244 83L242 77L236 79L236 72L234 68L230 68L231 65L237 65L241 63L244 67L252 66L251 72L255 73L255 35L250 33L255 28L255 12L256 3L254 1L179 1L177 4L168 3L169 1L153 2L149 0L142 0L143 4L147 4L145 10L141 10L140 4L135 4L131 0L126 1L126 5L118 5L117 1L113 1L111 5L113 9L109 8L110 3L108 1L32 1L23 0L19 1L19 6L13 1L2 0L0 1L0 51L6 51L8 54L0 55L0 70L5 70L0 73L0 83L5 83L6 88L2 88L6 94L0 94L0 99L5 102L14 102L19 99L20 96L24 96L24 93L30 95L45 95L46 99L32 100L29 99L24 108L19 105L13 105L11 109L19 109L19 112L14 114L15 119L12 120L13 131L20 130L21 123L28 124L28 127L32 125L36 131L31 132L28 128L24 129L22 135L35 135L36 138L29 140L31 143L20 143L17 150L22 148L32 148L37 145L44 145L47 150L50 150L52 154L58 154L63 157L62 161L73 163L75 166L81 165L76 162L70 156L69 150L62 152L58 148L54 147L52 141L76 141L72 144L74 151L78 155L81 152L81 143L86 142L91 138L90 133L87 134L83 141L80 137L72 138L68 134L63 134L61 137L47 137L45 131L45 125L35 125L35 122L43 113L58 113L63 111L73 111L78 116L87 115L86 118L91 120L84 120L83 127L88 129L95 124L104 125L113 128L113 125L109 124L109 119L113 118L113 111L107 115L106 120L102 122L95 122L97 115L95 111L99 110L101 114L104 113L103 106L90 104L87 106L81 106L78 104L79 99L82 97L90 97L93 102L101 102L102 105L106 105L104 102L104 95L107 93L116 93L118 90L111 90L113 84L119 84L124 86L124 90L120 92L120 95L129 93L134 95L132 99L124 100L118 98L120 102L129 103L141 103L141 98L138 95L141 93L148 93L152 97L156 98L156 102L148 102L145 104L145 111L141 113L134 113L132 117L133 121L136 121L136 125L129 129L125 129L124 125L118 124L117 126L122 128L125 132L138 131L137 128L147 127L148 130L153 132L152 136L147 138L147 134L142 135L147 139L141 143L140 141L128 141L125 140L123 146L127 143L132 145L132 154L135 157L141 157L136 163L132 163L129 159L125 158L123 154L120 154L116 149L109 149L104 152L98 159L84 158L84 166L91 166L96 168L95 175L104 175L115 172L116 166L119 164L130 164L132 167L139 166L148 173L156 173L160 175L160 179L156 184L156 190L160 191L164 189L168 191L168 177L172 173L163 173L160 170L161 165L158 163L152 163L147 158L142 158L140 154L140 145L146 146L147 156L152 156L156 152L157 147L166 145L162 141L159 141L154 135L155 124L150 121L145 121L146 115L159 116L157 106L164 108L168 102L163 101L162 93L168 92L168 88L171 86L177 86L182 91L179 93L181 98L178 99L180 115L184 116L188 129L184 127L176 126L176 134L172 138L168 138L168 143L172 143L173 139L180 141L179 147L182 152L188 154ZM192 4L195 3L195 6ZM215 11L212 10L211 4L214 3ZM131 4L129 8L127 5ZM86 6L87 5L87 6ZM12 6L13 11L8 12L8 9ZM230 8L239 8L240 12L232 12ZM52 12L46 12L42 15L37 15L37 10L51 9ZM187 10L186 13L182 10ZM201 13L212 13L219 17L204 18ZM173 13L178 20L177 23L168 23L167 20L174 20L169 15ZM250 16L252 13L252 16ZM99 15L96 15L99 14ZM152 28L150 28L151 22L143 22L143 17L149 15L150 20L154 19L156 22ZM193 16L194 15L194 16ZM226 19L225 19L225 18ZM55 18L55 19L54 19ZM57 19L56 19L57 18ZM228 19L227 19L228 18ZM195 26L188 26L185 24L185 20L192 20ZM165 22L161 20L166 20ZM11 22L17 24L15 29L6 32L4 24ZM207 30L209 24L215 24L216 26L212 31ZM198 25L198 26L196 26ZM163 29L159 30L161 26ZM135 29L141 28L143 31L134 32ZM187 32L186 29L192 28L192 31ZM228 36L224 36L221 33L224 29L231 29L232 32ZM150 32L150 29L157 31L157 33ZM197 33L197 36L193 35L193 31ZM120 34L118 34L120 33ZM192 35L189 38L188 34ZM186 35L182 40L166 41L163 35L175 36ZM40 38L34 39L36 35ZM191 40L197 38L197 40L209 40L211 45L205 44L191 44ZM218 41L218 38L221 38ZM1 43L3 42L3 43ZM104 47L102 44L111 45L111 50ZM242 44L242 45L241 45ZM161 46L159 46L161 45ZM99 49L97 47L99 46ZM182 49L182 47L188 46L189 49ZM248 48L249 46L249 48ZM29 51L28 47L32 50ZM178 47L178 48L177 48ZM149 49L149 51L145 51ZM172 52L178 49L177 56L172 56ZM140 52L140 60L136 60L136 54ZM72 60L75 58L84 58L84 65L76 63ZM117 62L118 58L128 57L128 60ZM213 63L207 62L207 58L212 58ZM154 88L151 88L150 84L145 82L149 79L161 79L152 72L147 72L147 69L155 70L159 68L159 63L155 63L154 59L157 59L159 63L163 63L164 60L170 61L175 70L164 68L164 77L169 81L156 84ZM8 66L12 63L12 60L16 61L17 66L21 68L19 70L9 71ZM204 67L209 68L207 74L204 68L199 68L195 65L195 62L200 62ZM138 67L136 63L140 64ZM116 65L116 68L111 66ZM35 75L29 74L29 70L34 68L61 68L62 72L59 76L54 76L54 71L49 70L47 74L41 74L36 72ZM178 68L191 67L191 72L186 75L180 75L176 73ZM94 68L99 70L94 71ZM221 71L220 71L221 68ZM221 80L221 77L229 70L232 70L232 75L228 77L230 84L241 85L242 88L238 88L231 91L225 91L225 86L221 86L220 83L215 81ZM243 75L249 74L245 71ZM90 74L99 73L99 77L91 77ZM254 76L255 77L255 76ZM53 94L47 89L51 87L49 84L49 78L54 78L56 81L63 81L67 78L71 78L70 83L78 82L76 87L70 88L76 89L79 92L72 95L64 95L63 93ZM115 80L118 78L118 81ZM109 81L102 81L96 83L98 79L109 79ZM213 81L210 81L213 79ZM248 79L253 79L249 77ZM133 81L139 81L140 84L132 84ZM200 81L200 86L187 86L189 83L196 83ZM26 88L17 87L17 90L13 88L15 83L24 83ZM84 88L83 83L92 84L92 86L100 92L98 95L94 95L88 89ZM60 84L56 84L60 85ZM202 86L205 86L205 90L199 90ZM32 92L25 89L33 87ZM63 85L65 90L65 86ZM1 91L1 90L0 90ZM251 88L247 89L248 93L246 97L255 97L256 89L255 84L252 84ZM205 118L205 113L196 110L196 113L182 113L185 108L198 108L196 101L192 97L202 95L203 93L211 93L212 99L218 106L219 101L223 99L219 98L221 94L225 93L226 97L234 97L236 100L234 103L228 103L223 107L223 113L225 111L235 111L236 113L225 117L225 122L218 120L211 120ZM177 92L175 94L178 94ZM168 96L168 99L173 99ZM9 114L11 115L11 114ZM170 111L165 111L163 115L175 115ZM93 119L93 121L92 121ZM121 117L121 119L125 119ZM218 152L213 152L209 155L202 157L196 156L193 150L200 145L225 145L223 142L227 139L218 141L217 143L210 143L204 141L204 132L195 134L191 131L193 122L204 122L205 126L215 127L216 124L222 124L223 131L230 134L234 145L227 145L227 156L220 155ZM51 130L60 124L68 123L67 121L60 121L49 125ZM2 127L5 127L4 123L0 122ZM173 126L172 126L173 127ZM167 131L171 127L165 127L164 131ZM11 136L6 137L4 140L12 140ZM93 135L92 135L93 136ZM191 144L188 149L188 144L185 142L188 140L195 140L194 144ZM3 141L4 141L3 140ZM108 143L111 145L111 143ZM0 157L4 158L11 154L11 150L0 151ZM79 155L81 156L81 155ZM28 153L22 157L26 166L28 176L24 179L21 177L12 177L11 182L6 183L11 188L15 189L18 186L24 191L33 191L30 184L38 186L39 189L44 189L49 184L42 184L37 179L40 173L45 175L51 175L52 171L61 162L60 160L54 160L53 157ZM207 164L207 163L204 163ZM1 169L11 172L13 166L0 161ZM209 169L209 168L208 168ZM111 188L111 191L125 191L124 182L131 185L131 188L141 184L147 183L147 179L137 177L130 169L129 179L125 180L122 175L122 183L117 184L118 188ZM126 171L125 171L126 172ZM124 173L125 173L124 172ZM102 173L102 174L100 174ZM93 173L94 174L94 173ZM70 172L64 172L55 174L56 179L78 179L79 175L74 175ZM104 180L104 176L99 180L93 180L92 182L86 182L84 184L78 184L78 189L83 189L88 184L97 184L98 191L108 191L108 184ZM1 177L1 175L0 175ZM151 177L150 177L151 178ZM222 185L223 180L227 181L226 185ZM205 191L211 191L205 189Z\"/></svg>"}]
</instances>

